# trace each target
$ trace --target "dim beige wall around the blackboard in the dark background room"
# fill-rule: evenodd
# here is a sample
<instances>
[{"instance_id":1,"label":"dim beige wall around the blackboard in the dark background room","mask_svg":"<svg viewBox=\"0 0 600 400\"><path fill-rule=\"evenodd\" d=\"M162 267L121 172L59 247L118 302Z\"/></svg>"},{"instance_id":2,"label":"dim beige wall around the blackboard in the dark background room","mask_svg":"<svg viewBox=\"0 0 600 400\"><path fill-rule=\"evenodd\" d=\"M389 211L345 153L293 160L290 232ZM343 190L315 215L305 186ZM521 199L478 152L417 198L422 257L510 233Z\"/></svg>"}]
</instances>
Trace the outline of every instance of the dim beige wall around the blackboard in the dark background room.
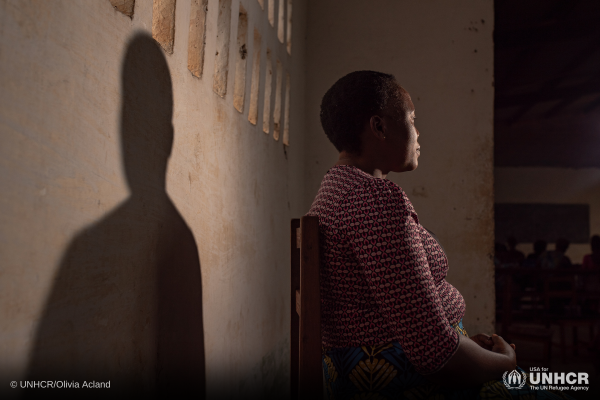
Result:
<instances>
[{"instance_id":1,"label":"dim beige wall around the blackboard in the dark background room","mask_svg":"<svg viewBox=\"0 0 600 400\"><path fill-rule=\"evenodd\" d=\"M600 168L498 167L494 184L496 203L589 204L590 235L600 234ZM527 255L533 243L517 248ZM566 255L581 264L590 252L589 244L571 243Z\"/></svg>"}]
</instances>

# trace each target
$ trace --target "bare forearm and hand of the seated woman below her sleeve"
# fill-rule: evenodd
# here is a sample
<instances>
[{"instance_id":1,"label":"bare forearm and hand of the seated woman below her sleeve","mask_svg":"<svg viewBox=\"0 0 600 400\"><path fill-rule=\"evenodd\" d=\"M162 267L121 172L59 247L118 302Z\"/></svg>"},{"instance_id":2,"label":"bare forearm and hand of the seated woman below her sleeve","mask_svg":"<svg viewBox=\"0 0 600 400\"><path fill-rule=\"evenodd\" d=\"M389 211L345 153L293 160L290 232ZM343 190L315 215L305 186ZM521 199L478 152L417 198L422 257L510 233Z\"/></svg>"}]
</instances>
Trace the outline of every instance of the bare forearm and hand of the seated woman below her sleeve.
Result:
<instances>
[{"instance_id":1,"label":"bare forearm and hand of the seated woman below her sleeve","mask_svg":"<svg viewBox=\"0 0 600 400\"><path fill-rule=\"evenodd\" d=\"M485 350L467 336L459 335L456 353L429 380L447 386L473 386L502 378L517 366L515 351L498 335L492 335L492 350Z\"/></svg>"}]
</instances>

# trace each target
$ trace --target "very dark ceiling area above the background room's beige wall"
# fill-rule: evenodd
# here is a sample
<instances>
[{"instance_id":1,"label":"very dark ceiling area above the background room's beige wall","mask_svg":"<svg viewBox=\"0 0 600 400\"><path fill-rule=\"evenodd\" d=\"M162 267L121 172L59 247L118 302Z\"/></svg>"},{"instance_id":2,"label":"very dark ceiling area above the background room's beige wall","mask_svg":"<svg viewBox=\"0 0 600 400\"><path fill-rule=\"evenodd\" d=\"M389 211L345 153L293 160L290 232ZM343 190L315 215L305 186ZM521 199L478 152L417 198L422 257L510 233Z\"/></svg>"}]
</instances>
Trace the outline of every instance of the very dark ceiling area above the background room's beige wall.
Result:
<instances>
[{"instance_id":1,"label":"very dark ceiling area above the background room's beige wall","mask_svg":"<svg viewBox=\"0 0 600 400\"><path fill-rule=\"evenodd\" d=\"M600 1L494 3L497 167L600 167Z\"/></svg>"}]
</instances>

